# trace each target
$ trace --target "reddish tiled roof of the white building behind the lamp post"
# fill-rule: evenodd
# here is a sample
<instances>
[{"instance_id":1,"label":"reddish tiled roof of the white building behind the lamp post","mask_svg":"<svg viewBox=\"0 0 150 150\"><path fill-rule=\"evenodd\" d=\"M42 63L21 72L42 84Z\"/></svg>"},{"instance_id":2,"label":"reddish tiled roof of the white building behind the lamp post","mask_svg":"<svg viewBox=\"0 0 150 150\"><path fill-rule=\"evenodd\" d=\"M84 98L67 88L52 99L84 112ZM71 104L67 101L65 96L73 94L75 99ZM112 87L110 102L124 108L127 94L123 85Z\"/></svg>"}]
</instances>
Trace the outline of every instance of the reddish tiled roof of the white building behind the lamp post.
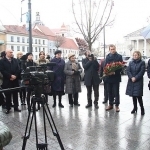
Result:
<instances>
[{"instance_id":1,"label":"reddish tiled roof of the white building behind the lamp post","mask_svg":"<svg viewBox=\"0 0 150 150\"><path fill-rule=\"evenodd\" d=\"M4 32L6 33L12 33L12 34L24 34L28 35L28 31L26 29L26 26L18 26L18 25L4 25ZM32 29L32 35L37 36L37 37L42 37L42 38L47 38L43 33L41 33L37 29Z\"/></svg>"}]
</instances>

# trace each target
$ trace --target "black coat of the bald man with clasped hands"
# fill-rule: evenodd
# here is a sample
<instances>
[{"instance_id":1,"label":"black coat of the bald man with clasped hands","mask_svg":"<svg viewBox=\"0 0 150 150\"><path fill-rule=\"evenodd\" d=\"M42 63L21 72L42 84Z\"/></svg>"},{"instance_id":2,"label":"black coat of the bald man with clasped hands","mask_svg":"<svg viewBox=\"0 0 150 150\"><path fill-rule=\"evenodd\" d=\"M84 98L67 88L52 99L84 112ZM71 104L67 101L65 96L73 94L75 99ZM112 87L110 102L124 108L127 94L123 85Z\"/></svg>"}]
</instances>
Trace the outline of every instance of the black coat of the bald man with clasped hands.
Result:
<instances>
[{"instance_id":1,"label":"black coat of the bald man with clasped hands","mask_svg":"<svg viewBox=\"0 0 150 150\"><path fill-rule=\"evenodd\" d=\"M20 67L17 59L12 58L11 63L7 60L7 58L1 59L0 72L3 75L3 88L13 88L19 86L18 77L20 75ZM11 81L11 75L15 75L17 78Z\"/></svg>"}]
</instances>

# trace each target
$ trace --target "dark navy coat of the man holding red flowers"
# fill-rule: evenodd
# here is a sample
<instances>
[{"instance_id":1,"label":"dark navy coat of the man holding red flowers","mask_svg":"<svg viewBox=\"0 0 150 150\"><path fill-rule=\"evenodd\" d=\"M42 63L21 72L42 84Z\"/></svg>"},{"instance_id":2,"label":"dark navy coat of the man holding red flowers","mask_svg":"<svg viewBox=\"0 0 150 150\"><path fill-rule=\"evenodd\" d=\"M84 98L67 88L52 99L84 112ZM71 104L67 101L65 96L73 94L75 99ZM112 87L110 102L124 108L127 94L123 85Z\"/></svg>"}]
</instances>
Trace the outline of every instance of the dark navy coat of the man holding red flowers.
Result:
<instances>
[{"instance_id":1,"label":"dark navy coat of the man holding red flowers","mask_svg":"<svg viewBox=\"0 0 150 150\"><path fill-rule=\"evenodd\" d=\"M118 53L108 54L105 59L105 65L113 63L113 62L122 62L122 56ZM107 83L118 83L121 82L121 71L122 69L116 70L115 75L110 75L105 77L105 82Z\"/></svg>"}]
</instances>

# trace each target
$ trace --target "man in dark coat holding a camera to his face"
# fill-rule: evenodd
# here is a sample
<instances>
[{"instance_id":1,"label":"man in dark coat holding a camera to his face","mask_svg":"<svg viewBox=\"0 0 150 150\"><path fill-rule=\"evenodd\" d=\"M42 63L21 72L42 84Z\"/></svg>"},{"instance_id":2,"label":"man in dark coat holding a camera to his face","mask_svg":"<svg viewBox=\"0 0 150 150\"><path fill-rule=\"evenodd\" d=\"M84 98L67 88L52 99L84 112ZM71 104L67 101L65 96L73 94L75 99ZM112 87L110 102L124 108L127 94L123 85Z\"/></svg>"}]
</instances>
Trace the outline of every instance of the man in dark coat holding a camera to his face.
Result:
<instances>
[{"instance_id":1,"label":"man in dark coat holding a camera to his face","mask_svg":"<svg viewBox=\"0 0 150 150\"><path fill-rule=\"evenodd\" d=\"M89 108L92 106L92 87L94 90L94 105L95 108L98 109L98 99L99 99L99 84L100 84L100 78L99 78L99 64L97 60L94 58L93 54L90 54L89 51L85 52L86 58L82 60L82 65L85 72L84 77L84 84L87 88L87 99L88 104L85 106L86 108Z\"/></svg>"}]
</instances>

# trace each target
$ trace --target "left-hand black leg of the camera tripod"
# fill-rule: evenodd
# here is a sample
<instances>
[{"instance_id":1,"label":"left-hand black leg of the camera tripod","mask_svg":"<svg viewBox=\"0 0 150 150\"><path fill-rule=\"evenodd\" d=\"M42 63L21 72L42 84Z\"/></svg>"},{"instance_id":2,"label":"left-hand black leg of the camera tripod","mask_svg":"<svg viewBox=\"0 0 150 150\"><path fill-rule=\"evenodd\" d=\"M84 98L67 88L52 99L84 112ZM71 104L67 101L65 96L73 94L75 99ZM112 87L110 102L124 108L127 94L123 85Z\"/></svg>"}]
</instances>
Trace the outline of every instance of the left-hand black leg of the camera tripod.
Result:
<instances>
[{"instance_id":1,"label":"left-hand black leg of the camera tripod","mask_svg":"<svg viewBox=\"0 0 150 150\"><path fill-rule=\"evenodd\" d=\"M32 121L33 121L33 114L32 114L31 122L30 122L30 126L29 126L29 121L30 121L30 115L31 115L31 107L32 107L32 105L33 105L33 102L31 102L31 106L30 106L30 110L29 110L29 114L28 114L28 119L27 119L25 134L24 134L24 137L23 137L22 150L25 150L26 143L27 143L27 139L29 139L29 137L30 137L31 126L32 126ZM28 132L28 135L27 135L28 126L29 126L29 132Z\"/></svg>"}]
</instances>

